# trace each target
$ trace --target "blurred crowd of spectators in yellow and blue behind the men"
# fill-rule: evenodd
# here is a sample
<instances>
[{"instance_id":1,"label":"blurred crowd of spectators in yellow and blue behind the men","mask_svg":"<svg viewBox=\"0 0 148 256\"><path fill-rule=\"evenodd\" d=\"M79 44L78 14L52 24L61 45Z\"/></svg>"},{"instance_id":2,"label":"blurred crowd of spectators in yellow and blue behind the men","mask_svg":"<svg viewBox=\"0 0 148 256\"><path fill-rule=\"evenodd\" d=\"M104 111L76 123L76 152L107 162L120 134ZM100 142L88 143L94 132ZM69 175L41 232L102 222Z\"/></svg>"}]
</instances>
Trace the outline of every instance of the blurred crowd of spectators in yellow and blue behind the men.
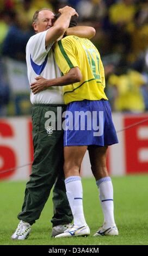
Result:
<instances>
[{"instance_id":1,"label":"blurred crowd of spectators in yellow and blue behind the men","mask_svg":"<svg viewBox=\"0 0 148 256\"><path fill-rule=\"evenodd\" d=\"M148 111L148 1L143 0L0 0L0 117L29 115L26 44L34 34L37 9L55 13L74 7L78 25L93 26L101 54L106 94L112 110Z\"/></svg>"}]
</instances>

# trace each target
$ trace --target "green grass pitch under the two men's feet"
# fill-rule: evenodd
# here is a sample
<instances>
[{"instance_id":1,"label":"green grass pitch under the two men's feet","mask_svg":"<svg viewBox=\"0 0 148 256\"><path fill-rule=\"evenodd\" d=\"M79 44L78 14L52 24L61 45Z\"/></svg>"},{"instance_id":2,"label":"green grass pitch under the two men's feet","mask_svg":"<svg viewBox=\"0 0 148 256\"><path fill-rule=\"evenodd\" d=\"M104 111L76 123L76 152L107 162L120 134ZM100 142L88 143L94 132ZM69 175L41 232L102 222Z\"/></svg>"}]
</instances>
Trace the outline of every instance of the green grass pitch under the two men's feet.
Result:
<instances>
[{"instance_id":1,"label":"green grass pitch under the two men's feet","mask_svg":"<svg viewBox=\"0 0 148 256\"><path fill-rule=\"evenodd\" d=\"M98 200L98 191L93 178L83 178L84 214L91 233L88 237L51 238L52 194L41 217L32 226L27 240L13 241L17 214L21 210L25 182L0 184L0 245L148 245L148 175L113 177L114 213L119 236L93 237L102 225L103 215Z\"/></svg>"}]
</instances>

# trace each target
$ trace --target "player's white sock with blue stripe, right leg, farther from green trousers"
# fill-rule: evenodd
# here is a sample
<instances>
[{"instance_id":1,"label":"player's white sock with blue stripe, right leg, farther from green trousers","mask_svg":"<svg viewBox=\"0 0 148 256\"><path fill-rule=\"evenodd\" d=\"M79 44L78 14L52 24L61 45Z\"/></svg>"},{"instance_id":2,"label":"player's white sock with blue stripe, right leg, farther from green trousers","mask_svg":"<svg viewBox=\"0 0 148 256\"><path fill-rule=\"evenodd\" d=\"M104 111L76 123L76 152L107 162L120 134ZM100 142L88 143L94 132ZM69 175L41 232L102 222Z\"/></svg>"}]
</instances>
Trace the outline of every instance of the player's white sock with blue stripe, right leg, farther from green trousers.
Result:
<instances>
[{"instance_id":1,"label":"player's white sock with blue stripe, right leg, farther from green trousers","mask_svg":"<svg viewBox=\"0 0 148 256\"><path fill-rule=\"evenodd\" d=\"M100 190L100 202L104 214L103 227L109 228L115 225L114 221L114 203L113 203L113 184L110 177L104 177L96 181Z\"/></svg>"}]
</instances>

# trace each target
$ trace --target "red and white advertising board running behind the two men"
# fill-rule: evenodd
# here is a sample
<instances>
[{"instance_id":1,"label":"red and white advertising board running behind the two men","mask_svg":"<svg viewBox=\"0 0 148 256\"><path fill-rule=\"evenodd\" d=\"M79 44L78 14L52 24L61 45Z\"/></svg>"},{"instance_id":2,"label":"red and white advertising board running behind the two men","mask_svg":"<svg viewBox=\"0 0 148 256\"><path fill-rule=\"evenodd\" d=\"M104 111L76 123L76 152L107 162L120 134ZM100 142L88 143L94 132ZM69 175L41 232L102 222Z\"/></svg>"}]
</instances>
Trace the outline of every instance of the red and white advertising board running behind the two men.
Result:
<instances>
[{"instance_id":1,"label":"red and white advertising board running behind the two men","mask_svg":"<svg viewBox=\"0 0 148 256\"><path fill-rule=\"evenodd\" d=\"M148 173L148 114L113 114L119 144L108 150L109 175ZM0 119L0 179L28 179L33 162L30 118ZM91 176L88 153L81 173Z\"/></svg>"}]
</instances>

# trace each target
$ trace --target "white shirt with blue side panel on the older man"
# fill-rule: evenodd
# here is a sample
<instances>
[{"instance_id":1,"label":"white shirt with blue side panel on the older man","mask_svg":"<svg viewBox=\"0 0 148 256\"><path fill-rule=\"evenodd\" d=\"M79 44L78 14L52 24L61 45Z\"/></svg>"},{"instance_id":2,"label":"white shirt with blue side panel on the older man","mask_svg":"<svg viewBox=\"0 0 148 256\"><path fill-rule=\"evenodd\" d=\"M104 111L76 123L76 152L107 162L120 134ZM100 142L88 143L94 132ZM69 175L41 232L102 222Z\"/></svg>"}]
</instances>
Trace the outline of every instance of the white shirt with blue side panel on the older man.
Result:
<instances>
[{"instance_id":1,"label":"white shirt with blue side panel on the older man","mask_svg":"<svg viewBox=\"0 0 148 256\"><path fill-rule=\"evenodd\" d=\"M29 84L33 83L35 77L42 76L46 79L60 77L60 71L55 63L52 44L45 48L45 37L47 31L33 35L26 46L26 62ZM30 93L32 104L64 104L62 88L50 87L40 93Z\"/></svg>"}]
</instances>

